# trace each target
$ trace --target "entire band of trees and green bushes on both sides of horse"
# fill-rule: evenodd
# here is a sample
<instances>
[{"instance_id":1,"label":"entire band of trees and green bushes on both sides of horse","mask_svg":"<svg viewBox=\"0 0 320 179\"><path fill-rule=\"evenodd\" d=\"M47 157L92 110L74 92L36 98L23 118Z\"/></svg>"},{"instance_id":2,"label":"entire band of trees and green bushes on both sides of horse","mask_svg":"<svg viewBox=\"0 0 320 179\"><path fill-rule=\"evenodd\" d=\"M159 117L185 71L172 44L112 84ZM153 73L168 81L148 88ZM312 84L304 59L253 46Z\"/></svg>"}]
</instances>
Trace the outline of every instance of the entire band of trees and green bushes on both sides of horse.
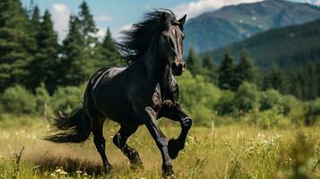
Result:
<instances>
[{"instance_id":1,"label":"entire band of trees and green bushes on both sides of horse","mask_svg":"<svg viewBox=\"0 0 320 179\"><path fill-rule=\"evenodd\" d=\"M48 10L40 13L37 6L2 0L0 12L0 120L5 114L70 113L81 104L93 72L123 63L110 30L102 40L95 35L98 29L85 2L70 16L62 43ZM221 64L215 61L191 48L188 71L177 77L181 103L196 124L245 120L267 128L318 121L320 64L261 70L246 50L238 63L230 51Z\"/></svg>"}]
</instances>

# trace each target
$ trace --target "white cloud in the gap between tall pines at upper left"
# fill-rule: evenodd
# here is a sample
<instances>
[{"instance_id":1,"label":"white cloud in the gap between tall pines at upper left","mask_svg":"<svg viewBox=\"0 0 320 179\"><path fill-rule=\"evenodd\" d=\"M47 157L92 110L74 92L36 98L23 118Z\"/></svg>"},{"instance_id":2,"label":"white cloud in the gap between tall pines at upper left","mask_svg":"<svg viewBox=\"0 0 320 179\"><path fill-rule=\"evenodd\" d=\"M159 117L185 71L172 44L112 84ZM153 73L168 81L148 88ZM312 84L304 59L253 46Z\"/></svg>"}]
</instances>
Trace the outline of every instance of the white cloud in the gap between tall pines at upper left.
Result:
<instances>
[{"instance_id":1,"label":"white cloud in the gap between tall pines at upper left","mask_svg":"<svg viewBox=\"0 0 320 179\"><path fill-rule=\"evenodd\" d=\"M65 4L53 4L51 6L52 21L54 22L54 29L59 35L59 39L65 38L69 29L69 16L71 10Z\"/></svg>"}]
</instances>

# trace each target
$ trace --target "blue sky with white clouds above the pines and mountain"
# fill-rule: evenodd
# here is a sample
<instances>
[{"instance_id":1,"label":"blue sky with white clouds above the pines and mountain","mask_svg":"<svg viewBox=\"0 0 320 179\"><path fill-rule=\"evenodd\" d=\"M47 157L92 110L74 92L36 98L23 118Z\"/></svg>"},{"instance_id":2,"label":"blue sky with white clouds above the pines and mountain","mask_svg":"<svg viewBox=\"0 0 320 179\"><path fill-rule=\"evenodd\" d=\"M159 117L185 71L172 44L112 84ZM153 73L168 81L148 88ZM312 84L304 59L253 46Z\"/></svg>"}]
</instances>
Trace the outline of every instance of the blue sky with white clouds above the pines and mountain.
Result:
<instances>
[{"instance_id":1,"label":"blue sky with white clouds above the pines and mountain","mask_svg":"<svg viewBox=\"0 0 320 179\"><path fill-rule=\"evenodd\" d=\"M22 0L26 7L30 6L31 0ZM39 5L41 13L48 9L52 13L55 30L59 38L65 37L68 30L68 17L71 13L77 14L79 4L83 0L33 0ZM98 36L102 37L108 28L115 38L120 36L120 31L128 29L131 24L139 21L143 13L152 8L169 8L178 16L187 14L188 18L198 14L214 11L221 6L229 4L252 3L261 0L87 0L91 13L94 15ZM320 5L320 0L291 0Z\"/></svg>"}]
</instances>

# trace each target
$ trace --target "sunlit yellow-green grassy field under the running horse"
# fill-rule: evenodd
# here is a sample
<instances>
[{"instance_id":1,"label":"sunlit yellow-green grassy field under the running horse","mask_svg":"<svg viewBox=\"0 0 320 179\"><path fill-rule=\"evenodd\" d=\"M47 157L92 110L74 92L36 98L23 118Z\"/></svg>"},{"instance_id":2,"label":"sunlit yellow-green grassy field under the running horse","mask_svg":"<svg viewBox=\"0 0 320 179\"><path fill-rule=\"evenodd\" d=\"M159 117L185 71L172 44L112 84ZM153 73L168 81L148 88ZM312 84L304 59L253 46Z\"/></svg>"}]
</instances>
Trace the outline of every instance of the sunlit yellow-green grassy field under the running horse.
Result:
<instances>
[{"instance_id":1,"label":"sunlit yellow-green grassy field under the running horse","mask_svg":"<svg viewBox=\"0 0 320 179\"><path fill-rule=\"evenodd\" d=\"M92 139L54 144L41 140L48 134L48 123L32 117L6 118L0 121L0 178L161 178L160 151L144 126L128 141L144 165L132 171L111 142L117 124L105 124L113 165L105 175ZM161 124L168 138L177 137L178 126ZM191 129L173 167L177 178L320 178L319 159L320 126L262 130L247 124L212 124Z\"/></svg>"}]
</instances>

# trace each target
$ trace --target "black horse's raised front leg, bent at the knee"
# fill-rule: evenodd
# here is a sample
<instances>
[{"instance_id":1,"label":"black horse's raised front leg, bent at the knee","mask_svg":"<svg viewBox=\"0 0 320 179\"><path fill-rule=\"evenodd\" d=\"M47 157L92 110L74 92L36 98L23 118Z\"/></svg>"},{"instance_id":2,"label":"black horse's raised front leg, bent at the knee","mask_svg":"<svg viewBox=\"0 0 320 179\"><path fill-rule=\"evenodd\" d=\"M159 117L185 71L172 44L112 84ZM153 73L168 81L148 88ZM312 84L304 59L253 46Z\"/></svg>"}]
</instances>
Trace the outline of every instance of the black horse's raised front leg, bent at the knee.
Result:
<instances>
[{"instance_id":1,"label":"black horse's raised front leg, bent at the knee","mask_svg":"<svg viewBox=\"0 0 320 179\"><path fill-rule=\"evenodd\" d=\"M192 125L192 119L186 115L182 107L177 103L174 105L171 101L166 100L162 106L161 116L177 121L181 125L181 132L177 139L171 139L168 143L169 157L174 159L180 150L185 148L186 136Z\"/></svg>"}]
</instances>

